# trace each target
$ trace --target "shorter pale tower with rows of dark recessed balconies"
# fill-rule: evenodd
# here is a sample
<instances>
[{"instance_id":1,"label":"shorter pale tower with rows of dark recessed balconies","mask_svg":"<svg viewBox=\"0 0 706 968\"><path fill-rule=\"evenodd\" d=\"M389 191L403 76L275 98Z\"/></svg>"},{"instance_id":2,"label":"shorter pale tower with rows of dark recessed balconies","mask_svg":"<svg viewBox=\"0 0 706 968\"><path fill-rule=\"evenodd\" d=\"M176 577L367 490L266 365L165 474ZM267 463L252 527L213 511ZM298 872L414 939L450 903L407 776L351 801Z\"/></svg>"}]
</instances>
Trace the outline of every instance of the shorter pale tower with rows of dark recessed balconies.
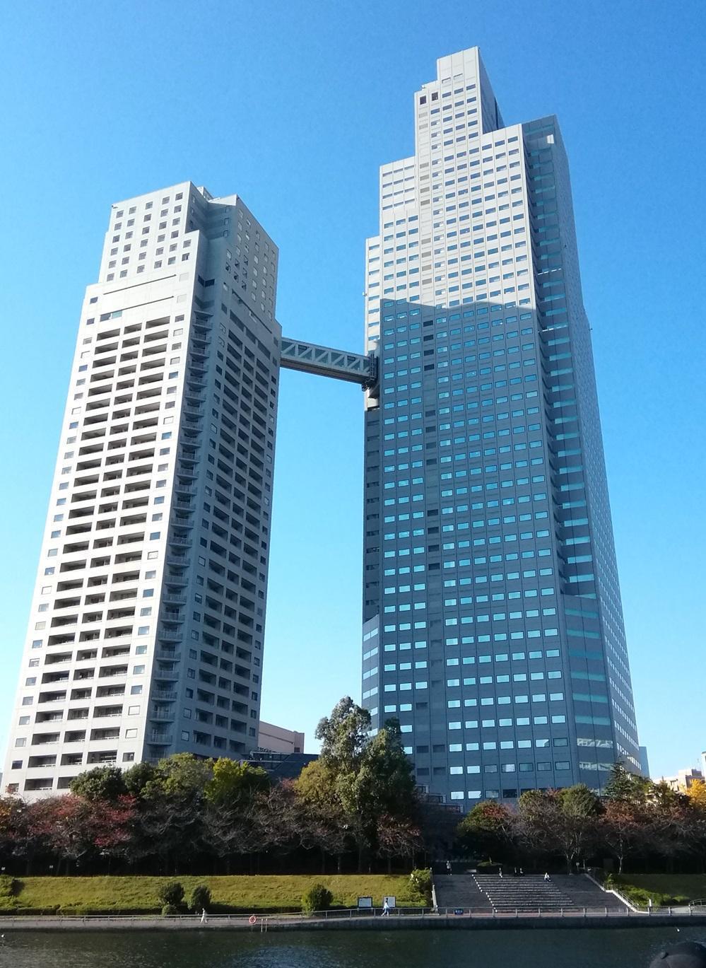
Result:
<instances>
[{"instance_id":1,"label":"shorter pale tower with rows of dark recessed balconies","mask_svg":"<svg viewBox=\"0 0 706 968\"><path fill-rule=\"evenodd\" d=\"M190 182L113 205L86 290L5 790L257 741L278 250Z\"/></svg>"}]
</instances>

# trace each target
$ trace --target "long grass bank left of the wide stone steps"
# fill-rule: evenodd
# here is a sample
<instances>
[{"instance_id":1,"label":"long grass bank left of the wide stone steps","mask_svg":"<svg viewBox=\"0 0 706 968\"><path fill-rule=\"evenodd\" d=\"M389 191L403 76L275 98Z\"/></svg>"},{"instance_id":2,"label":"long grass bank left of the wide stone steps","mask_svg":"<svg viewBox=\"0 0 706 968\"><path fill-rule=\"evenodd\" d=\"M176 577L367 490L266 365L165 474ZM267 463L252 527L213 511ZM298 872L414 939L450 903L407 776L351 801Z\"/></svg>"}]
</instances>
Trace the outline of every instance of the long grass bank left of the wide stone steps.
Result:
<instances>
[{"instance_id":1,"label":"long grass bank left of the wide stone steps","mask_svg":"<svg viewBox=\"0 0 706 968\"><path fill-rule=\"evenodd\" d=\"M177 880L186 898L197 884L211 889L212 910L226 913L299 911L302 894L312 884L324 884L334 895L333 906L355 907L359 895L372 896L380 906L384 894L395 894L397 904L424 906L405 875L238 875L233 877L22 877L23 887L15 897L0 896L0 914L30 909L70 914L150 914L159 912L157 890L166 880ZM28 910L26 913L30 913Z\"/></svg>"}]
</instances>

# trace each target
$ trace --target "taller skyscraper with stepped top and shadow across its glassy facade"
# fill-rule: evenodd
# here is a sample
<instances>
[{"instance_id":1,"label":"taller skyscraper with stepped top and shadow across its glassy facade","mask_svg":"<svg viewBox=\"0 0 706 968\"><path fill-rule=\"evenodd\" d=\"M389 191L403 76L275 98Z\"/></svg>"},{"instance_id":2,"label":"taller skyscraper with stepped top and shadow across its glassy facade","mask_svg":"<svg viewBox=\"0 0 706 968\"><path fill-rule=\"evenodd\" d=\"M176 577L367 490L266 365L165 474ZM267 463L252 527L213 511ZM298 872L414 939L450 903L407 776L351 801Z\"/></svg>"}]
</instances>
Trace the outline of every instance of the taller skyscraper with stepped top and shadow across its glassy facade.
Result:
<instances>
[{"instance_id":1,"label":"taller skyscraper with stepped top and shadow across its glassy facade","mask_svg":"<svg viewBox=\"0 0 706 968\"><path fill-rule=\"evenodd\" d=\"M414 95L367 243L363 702L482 799L639 771L566 153L477 48Z\"/></svg>"}]
</instances>

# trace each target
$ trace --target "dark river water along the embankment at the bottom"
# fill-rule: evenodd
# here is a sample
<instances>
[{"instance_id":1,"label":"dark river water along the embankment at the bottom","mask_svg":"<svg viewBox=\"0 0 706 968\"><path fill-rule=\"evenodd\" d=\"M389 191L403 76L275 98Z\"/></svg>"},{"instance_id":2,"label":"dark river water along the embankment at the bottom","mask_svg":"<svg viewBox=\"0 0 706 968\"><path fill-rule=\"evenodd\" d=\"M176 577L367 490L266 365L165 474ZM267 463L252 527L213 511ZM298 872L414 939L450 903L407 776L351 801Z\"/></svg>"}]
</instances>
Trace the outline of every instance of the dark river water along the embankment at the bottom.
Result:
<instances>
[{"instance_id":1,"label":"dark river water along the embankment at the bottom","mask_svg":"<svg viewBox=\"0 0 706 968\"><path fill-rule=\"evenodd\" d=\"M5 932L2 968L647 968L706 928L243 934Z\"/></svg>"}]
</instances>

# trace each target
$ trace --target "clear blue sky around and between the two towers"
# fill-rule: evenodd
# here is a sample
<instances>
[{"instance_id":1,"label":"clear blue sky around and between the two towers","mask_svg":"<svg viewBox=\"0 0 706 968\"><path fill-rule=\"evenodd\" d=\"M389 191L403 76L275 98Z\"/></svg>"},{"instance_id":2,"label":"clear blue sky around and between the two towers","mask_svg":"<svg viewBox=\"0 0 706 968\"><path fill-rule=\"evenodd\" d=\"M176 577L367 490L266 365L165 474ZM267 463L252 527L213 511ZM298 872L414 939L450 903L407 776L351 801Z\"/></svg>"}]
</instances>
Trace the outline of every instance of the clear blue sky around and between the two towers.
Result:
<instances>
[{"instance_id":1,"label":"clear blue sky around and between the two towers","mask_svg":"<svg viewBox=\"0 0 706 968\"><path fill-rule=\"evenodd\" d=\"M377 167L412 95L480 45L507 123L559 117L641 741L706 748L702 2L6 4L0 60L0 749L83 289L110 203L185 179L237 192L279 244L287 335L363 345ZM285 372L263 718L359 698L362 395ZM701 602L701 605L699 605Z\"/></svg>"}]
</instances>

